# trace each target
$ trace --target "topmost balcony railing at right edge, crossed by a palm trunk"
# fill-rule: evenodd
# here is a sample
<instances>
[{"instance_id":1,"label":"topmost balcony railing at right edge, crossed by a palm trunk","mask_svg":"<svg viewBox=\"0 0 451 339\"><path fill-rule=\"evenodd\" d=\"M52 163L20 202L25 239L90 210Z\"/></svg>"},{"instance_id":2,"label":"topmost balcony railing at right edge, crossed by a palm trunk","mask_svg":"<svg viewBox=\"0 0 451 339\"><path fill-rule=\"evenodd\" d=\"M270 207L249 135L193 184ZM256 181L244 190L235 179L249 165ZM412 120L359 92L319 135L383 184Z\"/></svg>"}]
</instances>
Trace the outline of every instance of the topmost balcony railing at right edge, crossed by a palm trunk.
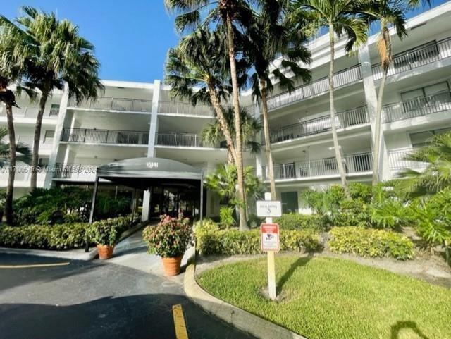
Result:
<instances>
[{"instance_id":1,"label":"topmost balcony railing at right edge, crossed by a palm trunk","mask_svg":"<svg viewBox=\"0 0 451 339\"><path fill-rule=\"evenodd\" d=\"M388 69L388 75L405 72L420 66L443 60L451 56L451 37L438 42L429 42L421 47L404 51L393 56L393 63ZM381 63L371 66L373 69L373 78L375 80L382 78Z\"/></svg>"}]
</instances>

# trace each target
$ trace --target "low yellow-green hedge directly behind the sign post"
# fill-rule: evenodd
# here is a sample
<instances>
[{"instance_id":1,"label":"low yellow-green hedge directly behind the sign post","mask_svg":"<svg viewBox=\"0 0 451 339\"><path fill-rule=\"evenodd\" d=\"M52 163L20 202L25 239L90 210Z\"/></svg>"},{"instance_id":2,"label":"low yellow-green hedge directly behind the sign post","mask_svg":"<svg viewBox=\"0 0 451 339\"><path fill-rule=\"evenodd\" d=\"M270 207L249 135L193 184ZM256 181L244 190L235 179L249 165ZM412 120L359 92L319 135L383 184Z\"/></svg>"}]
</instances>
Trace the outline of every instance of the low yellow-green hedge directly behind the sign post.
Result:
<instances>
[{"instance_id":1,"label":"low yellow-green hedge directly behind the sign post","mask_svg":"<svg viewBox=\"0 0 451 339\"><path fill-rule=\"evenodd\" d=\"M221 230L218 224L206 220L202 227L194 227L196 247L204 255L259 254L259 230L242 232L236 228ZM281 251L312 251L319 249L319 234L314 230L283 230L280 232Z\"/></svg>"}]
</instances>

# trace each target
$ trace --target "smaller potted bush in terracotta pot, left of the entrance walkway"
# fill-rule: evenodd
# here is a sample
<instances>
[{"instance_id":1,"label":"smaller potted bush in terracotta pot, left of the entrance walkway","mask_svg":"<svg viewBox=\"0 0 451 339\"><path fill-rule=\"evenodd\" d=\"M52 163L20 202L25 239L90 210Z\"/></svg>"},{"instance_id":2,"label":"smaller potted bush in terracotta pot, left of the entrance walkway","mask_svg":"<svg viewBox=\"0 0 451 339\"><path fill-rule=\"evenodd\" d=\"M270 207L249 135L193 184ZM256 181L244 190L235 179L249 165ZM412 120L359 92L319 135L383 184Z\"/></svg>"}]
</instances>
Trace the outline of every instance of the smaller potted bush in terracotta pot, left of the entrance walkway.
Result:
<instances>
[{"instance_id":1,"label":"smaller potted bush in terracotta pot, left of the entrance walkway","mask_svg":"<svg viewBox=\"0 0 451 339\"><path fill-rule=\"evenodd\" d=\"M111 220L95 221L88 227L89 239L97 244L101 260L113 257L114 245L118 240L118 227Z\"/></svg>"}]
</instances>

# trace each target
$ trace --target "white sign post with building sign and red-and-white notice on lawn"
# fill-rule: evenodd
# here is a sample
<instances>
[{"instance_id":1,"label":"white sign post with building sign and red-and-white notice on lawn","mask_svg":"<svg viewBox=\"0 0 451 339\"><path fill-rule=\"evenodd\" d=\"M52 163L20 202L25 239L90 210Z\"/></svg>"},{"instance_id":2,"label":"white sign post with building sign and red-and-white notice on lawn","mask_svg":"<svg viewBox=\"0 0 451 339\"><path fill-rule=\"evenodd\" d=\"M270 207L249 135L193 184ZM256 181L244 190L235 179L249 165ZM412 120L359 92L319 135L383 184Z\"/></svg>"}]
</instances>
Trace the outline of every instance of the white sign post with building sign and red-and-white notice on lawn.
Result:
<instances>
[{"instance_id":1,"label":"white sign post with building sign and red-and-white notice on lawn","mask_svg":"<svg viewBox=\"0 0 451 339\"><path fill-rule=\"evenodd\" d=\"M273 223L273 216L281 216L280 202L271 201L271 193L265 193L265 200L257 202L257 216L266 217L266 223L260 226L261 249L268 256L268 295L276 299L276 263L275 254L279 251L279 226Z\"/></svg>"}]
</instances>

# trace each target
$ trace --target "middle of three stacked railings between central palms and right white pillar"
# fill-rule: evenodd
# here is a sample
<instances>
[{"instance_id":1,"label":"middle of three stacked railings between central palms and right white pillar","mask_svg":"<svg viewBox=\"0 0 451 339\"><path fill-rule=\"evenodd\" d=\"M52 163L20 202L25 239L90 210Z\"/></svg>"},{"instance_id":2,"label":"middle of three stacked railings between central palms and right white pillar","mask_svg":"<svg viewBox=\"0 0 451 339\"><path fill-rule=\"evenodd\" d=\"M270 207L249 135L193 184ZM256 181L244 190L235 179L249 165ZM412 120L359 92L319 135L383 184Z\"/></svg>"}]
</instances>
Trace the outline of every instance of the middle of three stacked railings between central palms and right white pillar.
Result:
<instances>
[{"instance_id":1,"label":"middle of three stacked railings between central palms and right white pillar","mask_svg":"<svg viewBox=\"0 0 451 339\"><path fill-rule=\"evenodd\" d=\"M348 111L342 111L335 114L335 124L337 128L348 128L355 125L362 125L364 123L369 123L366 106L357 107L356 109L350 109ZM278 130L272 130L271 142L275 143L285 140L294 140L299 137L328 132L331 129L330 115L321 116L319 118L287 125Z\"/></svg>"}]
</instances>

